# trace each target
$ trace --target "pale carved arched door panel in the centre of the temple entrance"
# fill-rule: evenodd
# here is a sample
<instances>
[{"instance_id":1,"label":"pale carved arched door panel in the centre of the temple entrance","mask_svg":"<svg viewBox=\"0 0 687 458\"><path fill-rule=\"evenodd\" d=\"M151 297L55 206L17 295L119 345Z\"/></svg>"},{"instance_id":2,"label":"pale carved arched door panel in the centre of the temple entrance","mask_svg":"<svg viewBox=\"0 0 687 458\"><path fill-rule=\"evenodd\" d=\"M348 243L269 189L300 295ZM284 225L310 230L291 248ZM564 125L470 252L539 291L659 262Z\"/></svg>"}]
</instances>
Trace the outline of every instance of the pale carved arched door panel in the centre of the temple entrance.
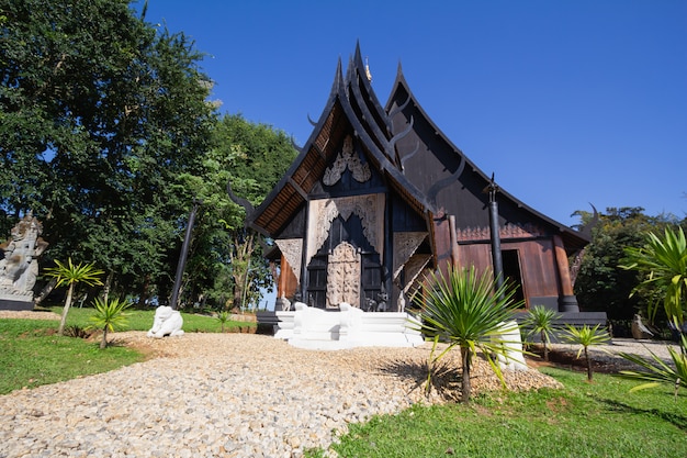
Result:
<instances>
[{"instance_id":1,"label":"pale carved arched door panel in the centre of the temple entrance","mask_svg":"<svg viewBox=\"0 0 687 458\"><path fill-rule=\"evenodd\" d=\"M341 242L334 248L327 264L327 308L337 308L341 302L360 306L360 254Z\"/></svg>"}]
</instances>

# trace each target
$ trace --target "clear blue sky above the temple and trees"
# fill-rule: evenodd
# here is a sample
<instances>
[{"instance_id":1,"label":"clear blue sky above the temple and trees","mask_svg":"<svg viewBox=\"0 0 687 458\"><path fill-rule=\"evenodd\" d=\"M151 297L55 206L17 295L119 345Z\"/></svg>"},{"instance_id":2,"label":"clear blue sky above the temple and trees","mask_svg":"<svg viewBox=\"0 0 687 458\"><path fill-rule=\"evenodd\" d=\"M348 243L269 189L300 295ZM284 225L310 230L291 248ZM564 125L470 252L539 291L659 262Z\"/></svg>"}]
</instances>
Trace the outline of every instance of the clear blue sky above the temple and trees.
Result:
<instances>
[{"instance_id":1,"label":"clear blue sky above the temple and trees","mask_svg":"<svg viewBox=\"0 0 687 458\"><path fill-rule=\"evenodd\" d=\"M299 145L360 42L382 103L401 63L453 144L548 216L686 215L685 0L149 0L146 19L206 53L222 112Z\"/></svg>"}]
</instances>

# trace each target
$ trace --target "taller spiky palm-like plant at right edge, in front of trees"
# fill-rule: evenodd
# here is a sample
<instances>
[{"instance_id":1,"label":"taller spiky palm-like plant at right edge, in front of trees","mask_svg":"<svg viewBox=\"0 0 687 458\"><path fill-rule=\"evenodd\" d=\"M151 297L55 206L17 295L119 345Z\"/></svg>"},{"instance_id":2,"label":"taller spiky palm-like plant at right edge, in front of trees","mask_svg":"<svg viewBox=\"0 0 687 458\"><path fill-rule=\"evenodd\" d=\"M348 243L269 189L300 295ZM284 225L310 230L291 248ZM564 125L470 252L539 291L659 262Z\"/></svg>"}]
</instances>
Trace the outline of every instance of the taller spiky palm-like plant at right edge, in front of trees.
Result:
<instances>
[{"instance_id":1,"label":"taller spiky palm-like plant at right edge, in front of trees","mask_svg":"<svg viewBox=\"0 0 687 458\"><path fill-rule=\"evenodd\" d=\"M626 248L624 269L645 273L641 286L657 286L666 289L664 308L666 315L685 322L683 302L687 298L687 241L682 227L665 228L663 237L649 233L646 244L641 248ZM656 309L650 308L653 321Z\"/></svg>"}]
</instances>

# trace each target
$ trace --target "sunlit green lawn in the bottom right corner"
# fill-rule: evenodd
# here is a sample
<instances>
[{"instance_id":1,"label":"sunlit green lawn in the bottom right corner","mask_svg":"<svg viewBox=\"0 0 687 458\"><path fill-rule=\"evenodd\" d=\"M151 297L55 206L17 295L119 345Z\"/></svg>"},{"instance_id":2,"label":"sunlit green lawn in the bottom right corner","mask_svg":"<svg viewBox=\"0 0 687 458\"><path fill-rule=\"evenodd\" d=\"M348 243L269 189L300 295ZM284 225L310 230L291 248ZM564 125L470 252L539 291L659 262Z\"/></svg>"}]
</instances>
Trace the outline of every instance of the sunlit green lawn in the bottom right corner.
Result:
<instances>
[{"instance_id":1,"label":"sunlit green lawn in the bottom right corner","mask_svg":"<svg viewBox=\"0 0 687 458\"><path fill-rule=\"evenodd\" d=\"M545 368L562 390L498 392L470 405L414 406L351 425L331 446L342 457L550 458L687 456L687 395L671 388ZM598 378L597 378L598 377ZM311 457L324 456L311 450Z\"/></svg>"}]
</instances>

